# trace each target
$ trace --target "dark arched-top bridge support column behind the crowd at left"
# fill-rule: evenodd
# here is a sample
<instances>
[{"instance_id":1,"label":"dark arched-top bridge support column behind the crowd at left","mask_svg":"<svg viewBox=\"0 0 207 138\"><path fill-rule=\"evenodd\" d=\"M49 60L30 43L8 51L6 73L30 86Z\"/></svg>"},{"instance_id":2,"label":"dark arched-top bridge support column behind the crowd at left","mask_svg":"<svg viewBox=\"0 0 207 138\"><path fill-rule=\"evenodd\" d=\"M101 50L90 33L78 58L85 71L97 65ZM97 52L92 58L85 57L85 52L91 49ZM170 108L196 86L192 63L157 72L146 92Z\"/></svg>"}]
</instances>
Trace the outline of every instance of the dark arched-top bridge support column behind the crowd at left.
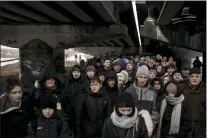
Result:
<instances>
[{"instance_id":1,"label":"dark arched-top bridge support column behind the crowd at left","mask_svg":"<svg viewBox=\"0 0 207 138\"><path fill-rule=\"evenodd\" d=\"M54 49L42 40L33 39L20 48L20 70L24 91L31 94L36 80L47 74L59 78L59 73L64 72L64 49Z\"/></svg>"}]
</instances>

